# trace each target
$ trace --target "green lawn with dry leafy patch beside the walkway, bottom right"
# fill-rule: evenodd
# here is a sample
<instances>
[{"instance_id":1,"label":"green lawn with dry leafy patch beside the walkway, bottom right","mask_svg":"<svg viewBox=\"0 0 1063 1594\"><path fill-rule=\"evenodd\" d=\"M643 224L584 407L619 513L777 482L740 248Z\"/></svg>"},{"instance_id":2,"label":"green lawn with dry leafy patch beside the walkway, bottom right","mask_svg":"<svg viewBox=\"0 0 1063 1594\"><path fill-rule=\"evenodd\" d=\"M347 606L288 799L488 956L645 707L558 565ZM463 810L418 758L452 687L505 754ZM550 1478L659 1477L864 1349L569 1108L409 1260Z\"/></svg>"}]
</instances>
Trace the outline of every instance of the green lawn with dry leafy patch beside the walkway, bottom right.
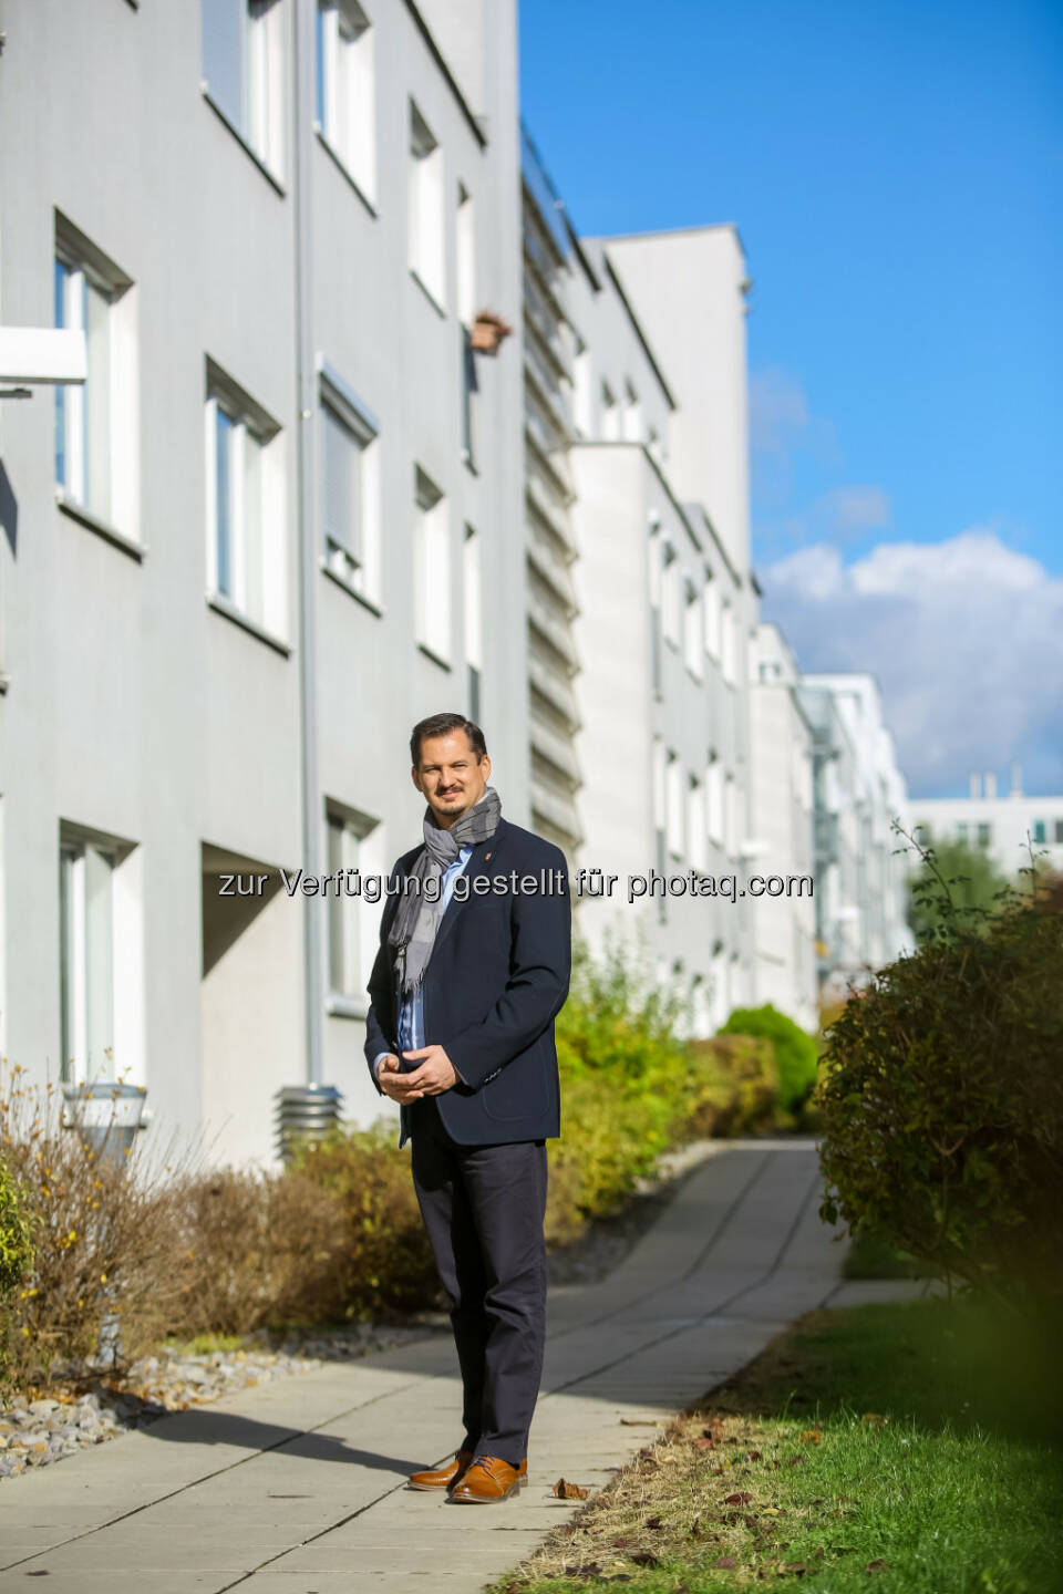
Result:
<instances>
[{"instance_id":1,"label":"green lawn with dry leafy patch beside the walkway, bottom right","mask_svg":"<svg viewBox=\"0 0 1063 1594\"><path fill-rule=\"evenodd\" d=\"M813 1313L499 1588L1053 1594L1057 1342L966 1301Z\"/></svg>"}]
</instances>

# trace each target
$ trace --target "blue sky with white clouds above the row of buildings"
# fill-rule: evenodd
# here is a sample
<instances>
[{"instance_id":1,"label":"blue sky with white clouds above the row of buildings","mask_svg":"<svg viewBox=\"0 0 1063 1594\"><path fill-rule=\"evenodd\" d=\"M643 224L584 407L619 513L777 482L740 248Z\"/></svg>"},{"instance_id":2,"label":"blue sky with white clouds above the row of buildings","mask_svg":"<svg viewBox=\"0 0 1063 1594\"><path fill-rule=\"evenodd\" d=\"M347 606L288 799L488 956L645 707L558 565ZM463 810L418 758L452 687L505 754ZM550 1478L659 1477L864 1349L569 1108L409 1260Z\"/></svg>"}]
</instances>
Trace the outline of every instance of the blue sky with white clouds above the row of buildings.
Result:
<instances>
[{"instance_id":1,"label":"blue sky with white clouds above the row of buildings","mask_svg":"<svg viewBox=\"0 0 1063 1594\"><path fill-rule=\"evenodd\" d=\"M754 563L805 668L878 673L913 791L1063 791L1063 5L523 0L521 94L580 231L738 223Z\"/></svg>"}]
</instances>

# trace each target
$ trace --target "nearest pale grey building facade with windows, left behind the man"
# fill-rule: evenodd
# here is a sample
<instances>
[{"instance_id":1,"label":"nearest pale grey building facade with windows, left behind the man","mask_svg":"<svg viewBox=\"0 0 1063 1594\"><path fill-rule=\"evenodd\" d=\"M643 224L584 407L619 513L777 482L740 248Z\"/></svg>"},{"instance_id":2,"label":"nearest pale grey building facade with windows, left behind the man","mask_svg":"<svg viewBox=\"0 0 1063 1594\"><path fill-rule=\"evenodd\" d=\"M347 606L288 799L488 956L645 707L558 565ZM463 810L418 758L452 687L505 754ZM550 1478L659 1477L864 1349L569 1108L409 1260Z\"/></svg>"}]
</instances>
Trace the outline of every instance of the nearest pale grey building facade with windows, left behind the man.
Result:
<instances>
[{"instance_id":1,"label":"nearest pale grey building facade with windows, left behind the man","mask_svg":"<svg viewBox=\"0 0 1063 1594\"><path fill-rule=\"evenodd\" d=\"M277 870L387 869L473 690L529 818L515 8L459 10L0 3L0 322L89 371L0 403L2 1042L220 1160L379 1101L379 904Z\"/></svg>"}]
</instances>

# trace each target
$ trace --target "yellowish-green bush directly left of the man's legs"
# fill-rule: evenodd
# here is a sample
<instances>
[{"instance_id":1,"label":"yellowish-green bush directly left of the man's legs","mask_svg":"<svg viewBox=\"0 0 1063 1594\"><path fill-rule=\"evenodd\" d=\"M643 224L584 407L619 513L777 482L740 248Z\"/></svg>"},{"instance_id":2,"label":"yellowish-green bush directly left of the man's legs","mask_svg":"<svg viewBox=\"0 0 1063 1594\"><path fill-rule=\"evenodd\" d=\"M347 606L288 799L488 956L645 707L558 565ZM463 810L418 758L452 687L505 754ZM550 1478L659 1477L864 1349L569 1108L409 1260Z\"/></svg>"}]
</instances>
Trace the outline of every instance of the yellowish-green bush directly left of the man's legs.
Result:
<instances>
[{"instance_id":1,"label":"yellowish-green bush directly left of the man's legs","mask_svg":"<svg viewBox=\"0 0 1063 1594\"><path fill-rule=\"evenodd\" d=\"M338 1315L367 1320L433 1305L440 1283L394 1119L335 1129L296 1144L292 1172L336 1200L343 1239L335 1261Z\"/></svg>"}]
</instances>

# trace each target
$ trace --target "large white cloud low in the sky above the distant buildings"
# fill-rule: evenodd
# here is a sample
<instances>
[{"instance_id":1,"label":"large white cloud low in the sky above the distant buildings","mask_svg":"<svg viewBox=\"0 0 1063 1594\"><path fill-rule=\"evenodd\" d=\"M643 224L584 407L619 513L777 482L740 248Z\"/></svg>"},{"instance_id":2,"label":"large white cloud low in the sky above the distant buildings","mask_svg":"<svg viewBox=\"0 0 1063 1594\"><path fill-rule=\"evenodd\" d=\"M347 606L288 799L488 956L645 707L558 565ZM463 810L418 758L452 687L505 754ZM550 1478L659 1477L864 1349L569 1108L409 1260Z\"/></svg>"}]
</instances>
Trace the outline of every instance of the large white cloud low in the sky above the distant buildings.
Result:
<instances>
[{"instance_id":1,"label":"large white cloud low in the sky above the distant buildings","mask_svg":"<svg viewBox=\"0 0 1063 1594\"><path fill-rule=\"evenodd\" d=\"M1018 759L1028 791L1063 791L1063 580L974 528L880 544L845 564L816 544L770 564L765 617L803 669L869 669L920 795Z\"/></svg>"}]
</instances>

